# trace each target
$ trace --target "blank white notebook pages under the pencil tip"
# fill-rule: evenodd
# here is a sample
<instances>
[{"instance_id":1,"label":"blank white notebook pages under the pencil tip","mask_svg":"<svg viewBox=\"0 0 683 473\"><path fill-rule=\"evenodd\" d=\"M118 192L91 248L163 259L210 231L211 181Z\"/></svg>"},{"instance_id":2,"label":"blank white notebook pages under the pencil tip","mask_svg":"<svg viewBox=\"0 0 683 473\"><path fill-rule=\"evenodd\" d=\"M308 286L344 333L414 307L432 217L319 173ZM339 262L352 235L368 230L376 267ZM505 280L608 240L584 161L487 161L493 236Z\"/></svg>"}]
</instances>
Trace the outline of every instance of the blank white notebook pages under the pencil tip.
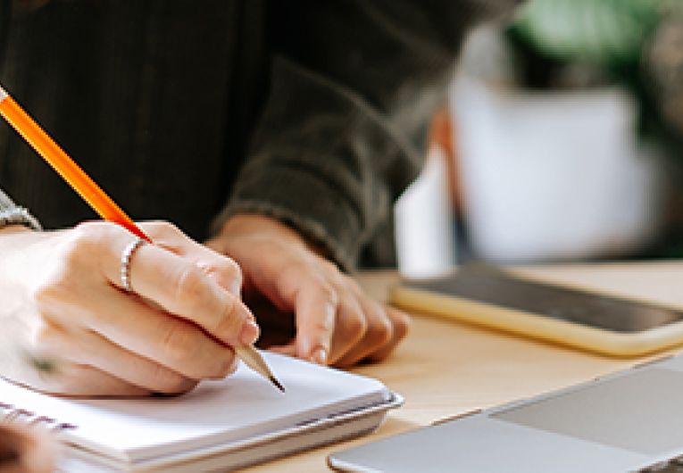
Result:
<instances>
[{"instance_id":1,"label":"blank white notebook pages under the pencil tip","mask_svg":"<svg viewBox=\"0 0 683 473\"><path fill-rule=\"evenodd\" d=\"M68 439L123 461L238 441L386 401L384 385L264 353L287 392L241 365L221 381L172 398L65 400L0 380L0 402L76 427Z\"/></svg>"}]
</instances>

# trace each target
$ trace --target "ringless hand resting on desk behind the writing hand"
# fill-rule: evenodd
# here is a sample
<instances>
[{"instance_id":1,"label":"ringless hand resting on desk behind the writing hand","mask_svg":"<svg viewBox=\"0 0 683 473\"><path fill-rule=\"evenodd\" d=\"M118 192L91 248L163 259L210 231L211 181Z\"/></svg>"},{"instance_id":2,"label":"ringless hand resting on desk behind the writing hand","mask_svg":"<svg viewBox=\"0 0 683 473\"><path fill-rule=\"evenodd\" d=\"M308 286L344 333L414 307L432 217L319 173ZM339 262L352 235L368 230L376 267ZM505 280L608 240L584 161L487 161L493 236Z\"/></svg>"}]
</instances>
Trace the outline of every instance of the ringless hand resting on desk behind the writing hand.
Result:
<instances>
[{"instance_id":1,"label":"ringless hand resting on desk behind the writing hand","mask_svg":"<svg viewBox=\"0 0 683 473\"><path fill-rule=\"evenodd\" d=\"M353 278L278 220L237 215L207 245L240 265L243 298L264 336L273 326L293 329L287 335L295 337L276 351L346 367L382 360L407 333L409 319L403 312L363 294ZM256 307L268 303L278 311L264 317Z\"/></svg>"}]
</instances>

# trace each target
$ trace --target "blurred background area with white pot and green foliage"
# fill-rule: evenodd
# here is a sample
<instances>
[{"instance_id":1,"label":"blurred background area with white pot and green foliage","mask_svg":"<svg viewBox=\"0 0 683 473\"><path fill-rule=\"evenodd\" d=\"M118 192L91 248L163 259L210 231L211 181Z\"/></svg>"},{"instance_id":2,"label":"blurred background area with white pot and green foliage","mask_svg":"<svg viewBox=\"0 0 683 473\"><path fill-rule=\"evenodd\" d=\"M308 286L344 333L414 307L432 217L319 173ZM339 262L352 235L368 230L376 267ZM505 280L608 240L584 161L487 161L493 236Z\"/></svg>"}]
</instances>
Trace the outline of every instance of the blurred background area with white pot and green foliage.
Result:
<instances>
[{"instance_id":1,"label":"blurred background area with white pot and green foliage","mask_svg":"<svg viewBox=\"0 0 683 473\"><path fill-rule=\"evenodd\" d=\"M399 269L683 257L683 1L531 0L471 31Z\"/></svg>"}]
</instances>

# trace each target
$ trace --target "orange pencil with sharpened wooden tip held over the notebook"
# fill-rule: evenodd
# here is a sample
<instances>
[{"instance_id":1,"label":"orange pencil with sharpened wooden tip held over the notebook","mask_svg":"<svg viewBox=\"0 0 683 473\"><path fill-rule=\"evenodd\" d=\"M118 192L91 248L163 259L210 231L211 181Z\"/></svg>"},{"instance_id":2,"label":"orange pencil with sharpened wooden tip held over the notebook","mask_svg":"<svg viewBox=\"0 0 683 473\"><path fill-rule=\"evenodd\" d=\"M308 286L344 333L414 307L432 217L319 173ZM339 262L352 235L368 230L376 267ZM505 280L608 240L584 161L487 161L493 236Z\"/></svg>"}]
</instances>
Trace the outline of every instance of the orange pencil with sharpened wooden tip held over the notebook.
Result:
<instances>
[{"instance_id":1,"label":"orange pencil with sharpened wooden tip held over the notebook","mask_svg":"<svg viewBox=\"0 0 683 473\"><path fill-rule=\"evenodd\" d=\"M43 158L56 170L62 178L69 183L83 199L97 212L104 220L118 223L124 228L152 243L152 239L146 236L133 220L121 210L109 195L104 193L101 187L97 186L96 182L74 162L69 154L54 142L40 126L33 120L27 112L17 104L14 99L7 94L2 86L0 86L0 115L4 120L12 125L14 129L23 137L29 145L37 151L37 154ZM246 364L254 369L257 373L265 378L269 378L271 383L284 391L285 388L279 383L278 379L273 376L271 369L263 360L261 353L259 353L252 345L235 346L237 355L245 361Z\"/></svg>"}]
</instances>

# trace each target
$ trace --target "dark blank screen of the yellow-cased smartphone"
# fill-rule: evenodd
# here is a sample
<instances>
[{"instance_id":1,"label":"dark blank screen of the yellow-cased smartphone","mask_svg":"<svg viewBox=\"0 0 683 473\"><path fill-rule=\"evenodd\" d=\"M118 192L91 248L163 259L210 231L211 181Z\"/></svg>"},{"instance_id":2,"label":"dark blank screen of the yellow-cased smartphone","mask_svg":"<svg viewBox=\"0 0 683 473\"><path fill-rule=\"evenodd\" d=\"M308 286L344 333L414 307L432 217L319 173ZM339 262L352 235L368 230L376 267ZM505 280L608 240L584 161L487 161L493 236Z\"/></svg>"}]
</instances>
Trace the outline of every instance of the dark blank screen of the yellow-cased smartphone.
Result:
<instances>
[{"instance_id":1,"label":"dark blank screen of the yellow-cased smartphone","mask_svg":"<svg viewBox=\"0 0 683 473\"><path fill-rule=\"evenodd\" d=\"M622 333L683 320L683 311L543 284L488 267L465 266L452 276L411 281L406 286Z\"/></svg>"}]
</instances>

